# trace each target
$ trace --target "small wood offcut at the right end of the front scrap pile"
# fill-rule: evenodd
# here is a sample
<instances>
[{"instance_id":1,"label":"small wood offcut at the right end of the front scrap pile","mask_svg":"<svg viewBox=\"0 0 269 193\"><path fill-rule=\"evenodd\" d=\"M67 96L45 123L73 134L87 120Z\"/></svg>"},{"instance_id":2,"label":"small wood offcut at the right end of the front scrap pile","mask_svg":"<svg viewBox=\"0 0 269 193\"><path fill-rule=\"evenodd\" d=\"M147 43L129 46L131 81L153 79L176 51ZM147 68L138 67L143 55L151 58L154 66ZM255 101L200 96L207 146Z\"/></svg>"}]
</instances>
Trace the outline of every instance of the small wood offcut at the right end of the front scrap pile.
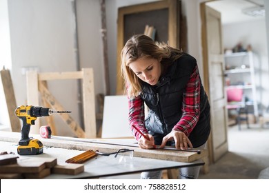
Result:
<instances>
[{"instance_id":1,"label":"small wood offcut at the right end of the front scrap pile","mask_svg":"<svg viewBox=\"0 0 269 193\"><path fill-rule=\"evenodd\" d=\"M77 175L84 172L84 165L78 163L67 163L66 165L56 165L52 168L53 174Z\"/></svg>"}]
</instances>

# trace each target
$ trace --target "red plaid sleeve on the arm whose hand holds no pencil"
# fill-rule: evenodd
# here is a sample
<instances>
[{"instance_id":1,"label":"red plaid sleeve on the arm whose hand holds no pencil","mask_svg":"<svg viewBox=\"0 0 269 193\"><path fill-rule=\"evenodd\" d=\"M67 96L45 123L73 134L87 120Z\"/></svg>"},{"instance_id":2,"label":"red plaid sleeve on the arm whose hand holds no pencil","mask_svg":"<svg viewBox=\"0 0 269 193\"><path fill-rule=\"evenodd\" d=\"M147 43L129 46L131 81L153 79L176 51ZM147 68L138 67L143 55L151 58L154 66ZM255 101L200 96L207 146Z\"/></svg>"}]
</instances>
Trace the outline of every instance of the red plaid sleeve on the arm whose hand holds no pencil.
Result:
<instances>
[{"instance_id":1,"label":"red plaid sleeve on the arm whose hand holds no pencil","mask_svg":"<svg viewBox=\"0 0 269 193\"><path fill-rule=\"evenodd\" d=\"M184 132L186 136L190 135L199 120L200 84L198 67L196 66L186 85L186 91L183 93L181 119L173 128L173 130Z\"/></svg>"}]
</instances>

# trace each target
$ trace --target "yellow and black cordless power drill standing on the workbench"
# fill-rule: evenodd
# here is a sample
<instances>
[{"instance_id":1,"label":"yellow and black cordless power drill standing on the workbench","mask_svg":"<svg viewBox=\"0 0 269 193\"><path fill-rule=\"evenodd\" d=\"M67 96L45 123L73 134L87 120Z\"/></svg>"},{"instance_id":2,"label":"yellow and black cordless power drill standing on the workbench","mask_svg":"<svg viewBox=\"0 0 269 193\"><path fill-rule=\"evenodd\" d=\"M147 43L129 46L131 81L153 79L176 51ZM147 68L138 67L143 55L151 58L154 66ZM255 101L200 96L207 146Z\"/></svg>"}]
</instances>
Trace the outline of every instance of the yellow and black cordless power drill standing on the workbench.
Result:
<instances>
[{"instance_id":1,"label":"yellow and black cordless power drill standing on the workbench","mask_svg":"<svg viewBox=\"0 0 269 193\"><path fill-rule=\"evenodd\" d=\"M22 120L21 140L17 148L20 155L35 155L43 153L43 143L38 139L29 138L30 126L34 125L37 117L50 116L53 113L70 113L70 111L55 111L50 108L42 108L32 105L21 105L15 110L15 114Z\"/></svg>"}]
</instances>

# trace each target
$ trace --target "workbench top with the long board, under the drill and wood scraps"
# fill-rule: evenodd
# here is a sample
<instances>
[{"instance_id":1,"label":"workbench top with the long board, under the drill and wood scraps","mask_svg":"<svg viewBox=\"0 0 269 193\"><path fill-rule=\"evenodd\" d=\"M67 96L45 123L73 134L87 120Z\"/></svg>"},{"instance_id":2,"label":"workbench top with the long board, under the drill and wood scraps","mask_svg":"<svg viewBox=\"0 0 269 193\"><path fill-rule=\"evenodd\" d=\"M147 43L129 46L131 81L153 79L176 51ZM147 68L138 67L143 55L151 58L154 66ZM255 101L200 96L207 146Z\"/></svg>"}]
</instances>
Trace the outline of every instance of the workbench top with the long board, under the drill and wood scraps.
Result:
<instances>
[{"instance_id":1,"label":"workbench top with the long board, under the drill and wood scraps","mask_svg":"<svg viewBox=\"0 0 269 193\"><path fill-rule=\"evenodd\" d=\"M83 163L84 170L79 174L50 174L44 179L97 179L103 176L134 174L152 170L167 170L180 167L193 167L203 165L201 158L206 156L206 151L201 154L195 152L177 152L171 150L142 150L137 148L133 139L105 140L105 139L41 139L39 135L30 134L34 139L39 139L43 145L43 154L19 156L19 159L42 161L43 159L57 159L57 165L68 165L67 159L77 156L86 150L99 150L100 152L115 152L121 148L134 150L133 156L128 153L110 156L97 155ZM0 132L0 152L14 152L17 154L17 145L21 137L19 132ZM89 142L87 142L89 141ZM96 142L96 143L95 143ZM177 156L175 156L177 155ZM150 158L151 157L151 158ZM1 166L0 166L1 167Z\"/></svg>"}]
</instances>

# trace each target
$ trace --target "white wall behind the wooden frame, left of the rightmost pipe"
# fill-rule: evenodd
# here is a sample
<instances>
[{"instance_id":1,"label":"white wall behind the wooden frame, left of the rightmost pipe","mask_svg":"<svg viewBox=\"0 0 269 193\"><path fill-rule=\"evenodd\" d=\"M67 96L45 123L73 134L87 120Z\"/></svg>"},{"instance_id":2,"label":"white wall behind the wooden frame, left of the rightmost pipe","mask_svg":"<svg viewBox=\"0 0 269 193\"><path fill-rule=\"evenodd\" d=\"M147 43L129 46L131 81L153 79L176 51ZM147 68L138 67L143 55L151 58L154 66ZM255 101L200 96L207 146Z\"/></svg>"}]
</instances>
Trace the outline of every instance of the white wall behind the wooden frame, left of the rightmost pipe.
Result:
<instances>
[{"instance_id":1,"label":"white wall behind the wooden frame, left of the rightmost pipe","mask_svg":"<svg viewBox=\"0 0 269 193\"><path fill-rule=\"evenodd\" d=\"M26 105L26 76L23 68L39 72L77 71L74 14L70 0L8 1L12 81L17 105ZM77 1L79 59L81 68L93 68L94 92L103 93L101 13L98 0ZM52 94L75 121L81 124L77 81L49 81ZM32 105L32 104L29 104ZM58 134L72 135L57 115Z\"/></svg>"}]
</instances>

